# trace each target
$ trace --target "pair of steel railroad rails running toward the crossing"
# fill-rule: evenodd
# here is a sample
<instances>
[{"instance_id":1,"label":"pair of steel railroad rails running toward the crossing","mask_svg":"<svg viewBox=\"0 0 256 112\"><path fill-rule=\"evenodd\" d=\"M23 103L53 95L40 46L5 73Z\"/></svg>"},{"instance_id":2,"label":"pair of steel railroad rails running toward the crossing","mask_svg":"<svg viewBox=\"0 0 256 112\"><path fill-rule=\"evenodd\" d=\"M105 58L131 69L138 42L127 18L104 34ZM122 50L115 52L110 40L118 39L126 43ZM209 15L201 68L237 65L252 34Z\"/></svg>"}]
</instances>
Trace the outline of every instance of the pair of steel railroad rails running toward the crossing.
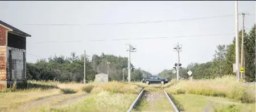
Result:
<instances>
[{"instance_id":1,"label":"pair of steel railroad rails running toward the crossing","mask_svg":"<svg viewBox=\"0 0 256 112\"><path fill-rule=\"evenodd\" d=\"M160 87L164 93L164 96L166 96L166 98L168 99L168 101L170 102L170 106L172 106L172 108L174 109L175 112L179 112L179 110L177 109L176 105L174 104L174 102L171 100L170 96L166 93L166 91L164 91L164 89L162 87ZM133 104L130 105L129 109L127 110L127 112L131 112L135 105L138 103L139 99L143 96L143 93L145 92L146 88L143 88L142 91L139 93L138 97L135 99L135 101L133 102ZM172 110L170 110L172 111Z\"/></svg>"}]
</instances>

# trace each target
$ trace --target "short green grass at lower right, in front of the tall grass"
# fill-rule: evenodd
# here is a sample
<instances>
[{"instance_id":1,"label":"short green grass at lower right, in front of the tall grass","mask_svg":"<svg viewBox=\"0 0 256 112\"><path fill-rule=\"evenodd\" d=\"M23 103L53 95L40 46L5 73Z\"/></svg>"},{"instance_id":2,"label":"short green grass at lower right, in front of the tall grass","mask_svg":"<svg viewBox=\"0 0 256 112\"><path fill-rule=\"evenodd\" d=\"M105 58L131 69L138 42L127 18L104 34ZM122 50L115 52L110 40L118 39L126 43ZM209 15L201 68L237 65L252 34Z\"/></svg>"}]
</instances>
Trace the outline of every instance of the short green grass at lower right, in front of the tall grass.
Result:
<instances>
[{"instance_id":1,"label":"short green grass at lower right, in front of the tall grass","mask_svg":"<svg viewBox=\"0 0 256 112\"><path fill-rule=\"evenodd\" d=\"M254 112L254 104L242 104L227 98L207 97L195 94L177 94L172 96L181 111L246 111Z\"/></svg>"}]
</instances>

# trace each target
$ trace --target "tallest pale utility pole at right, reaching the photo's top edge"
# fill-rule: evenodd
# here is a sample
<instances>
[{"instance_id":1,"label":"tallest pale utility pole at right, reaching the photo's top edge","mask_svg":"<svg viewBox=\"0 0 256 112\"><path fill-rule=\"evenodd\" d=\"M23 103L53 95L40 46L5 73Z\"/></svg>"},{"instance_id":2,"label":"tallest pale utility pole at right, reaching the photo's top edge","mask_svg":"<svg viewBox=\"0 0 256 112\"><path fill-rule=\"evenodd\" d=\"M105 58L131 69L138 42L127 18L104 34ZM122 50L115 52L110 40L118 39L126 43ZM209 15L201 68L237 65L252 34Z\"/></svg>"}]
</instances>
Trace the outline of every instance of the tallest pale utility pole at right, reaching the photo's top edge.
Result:
<instances>
[{"instance_id":1,"label":"tallest pale utility pole at right, reaching the photo's top edge","mask_svg":"<svg viewBox=\"0 0 256 112\"><path fill-rule=\"evenodd\" d=\"M236 68L237 68L237 81L240 81L240 67L239 67L239 35L238 35L238 1L235 1L236 12Z\"/></svg>"}]
</instances>

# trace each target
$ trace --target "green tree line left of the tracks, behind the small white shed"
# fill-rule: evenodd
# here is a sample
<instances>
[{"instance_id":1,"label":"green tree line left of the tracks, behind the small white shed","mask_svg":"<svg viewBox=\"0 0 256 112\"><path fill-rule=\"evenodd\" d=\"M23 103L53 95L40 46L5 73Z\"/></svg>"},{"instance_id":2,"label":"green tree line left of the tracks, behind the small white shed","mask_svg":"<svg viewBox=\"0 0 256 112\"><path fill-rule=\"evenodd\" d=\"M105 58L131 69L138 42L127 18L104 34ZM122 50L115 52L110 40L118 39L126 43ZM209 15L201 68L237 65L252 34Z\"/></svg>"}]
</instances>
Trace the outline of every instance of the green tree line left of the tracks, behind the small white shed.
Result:
<instances>
[{"instance_id":1,"label":"green tree line left of the tracks, behind the small white shed","mask_svg":"<svg viewBox=\"0 0 256 112\"><path fill-rule=\"evenodd\" d=\"M92 59L86 55L86 82L93 81L95 75L104 73L108 74L109 80L127 81L127 57L117 57L102 53L101 55L92 55ZM131 64L131 67L134 67ZM125 68L125 70L123 70ZM150 72L141 68L135 68L131 72L131 80L139 81L143 77L151 76ZM84 79L84 54L77 55L72 52L69 57L53 56L48 59L39 59L36 63L26 64L26 77L28 80L56 80L61 82L76 81L82 82Z\"/></svg>"}]
</instances>

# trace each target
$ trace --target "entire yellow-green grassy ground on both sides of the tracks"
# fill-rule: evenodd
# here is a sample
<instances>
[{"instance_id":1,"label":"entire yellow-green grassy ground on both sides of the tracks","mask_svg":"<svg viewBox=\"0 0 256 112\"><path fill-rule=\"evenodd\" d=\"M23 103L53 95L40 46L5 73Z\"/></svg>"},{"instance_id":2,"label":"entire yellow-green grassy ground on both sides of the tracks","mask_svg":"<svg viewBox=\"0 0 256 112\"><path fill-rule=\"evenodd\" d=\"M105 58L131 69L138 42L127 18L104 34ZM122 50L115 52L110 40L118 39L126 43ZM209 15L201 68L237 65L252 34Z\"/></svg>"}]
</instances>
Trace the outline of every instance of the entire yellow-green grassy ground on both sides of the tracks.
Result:
<instances>
[{"instance_id":1,"label":"entire yellow-green grassy ground on both sides of the tracks","mask_svg":"<svg viewBox=\"0 0 256 112\"><path fill-rule=\"evenodd\" d=\"M234 77L180 80L165 85L118 81L106 84L28 81L26 89L10 88L0 92L0 111L126 111L143 87L146 87L147 92L162 92L159 87L164 87L175 99L179 108L185 111L204 111L208 108L217 111L255 111L255 85L237 83ZM70 104L61 104L63 101L80 96L85 97ZM19 109L24 104L51 97L54 98L28 109ZM159 98L155 102L161 107L160 109L167 109L168 107L165 106L170 104L165 101L167 100ZM138 111L149 107L147 100L142 100L141 105Z\"/></svg>"}]
</instances>

